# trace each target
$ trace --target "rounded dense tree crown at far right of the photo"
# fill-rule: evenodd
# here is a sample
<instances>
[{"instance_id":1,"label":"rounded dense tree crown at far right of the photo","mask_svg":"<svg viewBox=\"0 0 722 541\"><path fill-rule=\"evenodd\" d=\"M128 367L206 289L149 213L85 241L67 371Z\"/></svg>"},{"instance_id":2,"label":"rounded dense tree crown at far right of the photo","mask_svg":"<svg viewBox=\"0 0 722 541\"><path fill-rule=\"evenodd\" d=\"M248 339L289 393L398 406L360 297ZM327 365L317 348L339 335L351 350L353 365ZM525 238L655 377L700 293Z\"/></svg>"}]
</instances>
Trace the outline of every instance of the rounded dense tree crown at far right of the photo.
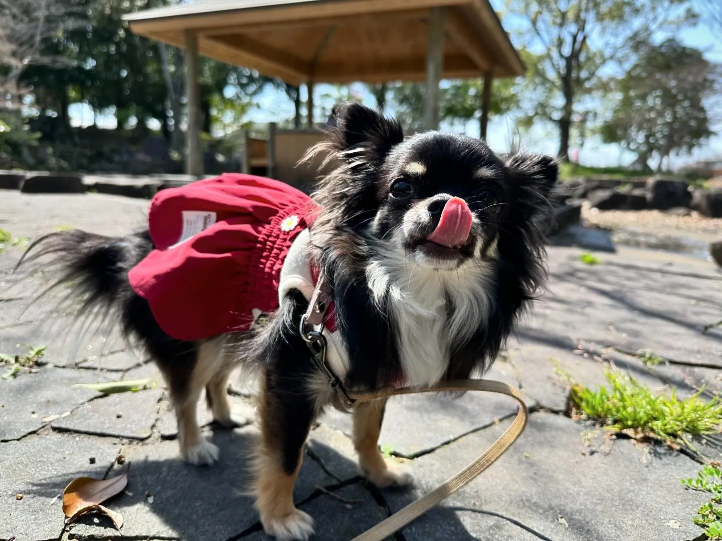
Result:
<instances>
[{"instance_id":1,"label":"rounded dense tree crown at far right of the photo","mask_svg":"<svg viewBox=\"0 0 722 541\"><path fill-rule=\"evenodd\" d=\"M627 74L612 85L619 100L601 134L638 154L643 166L651 157L690 152L713 135L705 100L716 90L718 70L699 50L677 40L647 44Z\"/></svg>"}]
</instances>

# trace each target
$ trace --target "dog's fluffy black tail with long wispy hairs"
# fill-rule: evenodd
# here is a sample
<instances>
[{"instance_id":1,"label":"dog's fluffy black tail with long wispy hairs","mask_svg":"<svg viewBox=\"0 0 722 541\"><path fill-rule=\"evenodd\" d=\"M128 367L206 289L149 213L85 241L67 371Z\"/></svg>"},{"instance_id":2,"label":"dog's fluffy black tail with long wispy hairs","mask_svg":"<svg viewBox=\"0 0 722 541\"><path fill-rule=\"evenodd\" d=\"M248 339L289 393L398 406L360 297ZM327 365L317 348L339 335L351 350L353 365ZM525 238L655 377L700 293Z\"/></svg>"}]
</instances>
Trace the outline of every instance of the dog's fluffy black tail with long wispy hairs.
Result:
<instances>
[{"instance_id":1,"label":"dog's fluffy black tail with long wispy hairs","mask_svg":"<svg viewBox=\"0 0 722 541\"><path fill-rule=\"evenodd\" d=\"M74 229L45 235L30 245L15 271L41 273L45 289L33 304L62 290L58 304L71 308L76 321L99 325L113 317L126 337L134 330L128 318L139 297L131 289L128 273L153 249L148 232L128 237L105 237Z\"/></svg>"}]
</instances>

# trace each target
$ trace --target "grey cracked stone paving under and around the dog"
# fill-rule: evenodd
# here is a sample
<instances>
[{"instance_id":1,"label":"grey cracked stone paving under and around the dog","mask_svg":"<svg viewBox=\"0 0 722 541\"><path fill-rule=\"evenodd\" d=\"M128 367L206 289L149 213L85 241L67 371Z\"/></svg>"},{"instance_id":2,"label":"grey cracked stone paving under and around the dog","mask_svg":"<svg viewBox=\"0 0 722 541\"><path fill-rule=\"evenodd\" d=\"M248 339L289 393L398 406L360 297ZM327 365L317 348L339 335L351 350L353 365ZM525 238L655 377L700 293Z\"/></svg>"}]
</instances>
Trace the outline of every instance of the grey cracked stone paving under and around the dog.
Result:
<instances>
[{"instance_id":1,"label":"grey cracked stone paving under and around the dog","mask_svg":"<svg viewBox=\"0 0 722 541\"><path fill-rule=\"evenodd\" d=\"M142 226L146 205L109 195L2 191L0 228L31 238L67 226L123 233ZM628 439L583 439L590 427L562 414L568 389L554 366L586 384L604 383L605 362L612 362L655 389L674 385L690 394L705 384L719 390L722 331L703 336L700 330L721 317L722 273L703 260L643 250L602 254L600 265L588 266L579 263L580 252L552 248L549 294L490 374L523 390L533 411L526 431L487 472L394 539L684 541L700 535L692 516L703 495L679 484L699 465ZM45 317L42 307L18 322L30 289L7 271L19 254L12 248L0 255L0 351L22 353L19 345L40 343L48 349L37 371L0 380L0 539L264 539L243 493L245 456L256 436L247 393L252 385L235 381L231 389L245 426L206 428L221 449L220 462L183 464L162 387L105 397L73 387L152 376L152 364L125 351L111 330L87 343L58 335L62 318ZM605 346L651 348L708 367L646 368L617 351L606 361L574 353ZM377 491L362 483L349 419L326 415L310 437L295 493L316 517L316 539L348 540L401 509L476 457L514 412L505 397L473 393L456 400L392 400L381 443L413 468L417 484L411 491ZM205 410L201 416L209 421ZM123 514L122 534L103 517L64 527L57 496L78 476L114 475L118 454L132 463L126 491L108 502Z\"/></svg>"}]
</instances>

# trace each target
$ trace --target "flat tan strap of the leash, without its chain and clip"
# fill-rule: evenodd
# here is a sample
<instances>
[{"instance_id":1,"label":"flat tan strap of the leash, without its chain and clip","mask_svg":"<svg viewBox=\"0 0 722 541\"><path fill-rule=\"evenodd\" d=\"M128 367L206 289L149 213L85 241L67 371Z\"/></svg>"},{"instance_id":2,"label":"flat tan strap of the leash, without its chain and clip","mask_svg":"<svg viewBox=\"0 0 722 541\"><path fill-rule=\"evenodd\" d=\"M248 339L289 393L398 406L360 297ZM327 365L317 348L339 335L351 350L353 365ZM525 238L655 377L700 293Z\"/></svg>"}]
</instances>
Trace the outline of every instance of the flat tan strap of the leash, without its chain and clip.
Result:
<instances>
[{"instance_id":1,"label":"flat tan strap of the leash, without its chain and clip","mask_svg":"<svg viewBox=\"0 0 722 541\"><path fill-rule=\"evenodd\" d=\"M354 537L352 541L383 541L389 535L394 532L398 532L399 529L409 524L419 516L424 514L432 507L438 505L441 501L451 494L458 491L459 488L463 487L471 480L477 477L481 472L490 467L497 458L499 458L510 446L516 441L519 435L523 432L526 426L526 421L529 418L529 411L526 409L521 393L511 385L503 382L495 382L489 379L461 379L458 381L444 382L434 387L427 387L424 389L412 389L409 387L402 387L400 389L389 388L386 390L380 390L378 392L367 392L358 395L352 395L357 402L368 402L370 400L376 400L378 398L386 398L393 395L410 395L415 392L440 392L440 391L487 391L497 392L501 395L507 395L513 397L519 403L519 410L514 418L514 421L510 424L509 428L504 431L504 434L499 436L499 439L495 441L489 449L471 462L468 466L461 470L453 477L446 480L443 484L435 488L433 491L428 493L426 496L419 498L417 501L409 503L404 509L389 516L388 519L376 524L373 528L368 529L361 535Z\"/></svg>"}]
</instances>

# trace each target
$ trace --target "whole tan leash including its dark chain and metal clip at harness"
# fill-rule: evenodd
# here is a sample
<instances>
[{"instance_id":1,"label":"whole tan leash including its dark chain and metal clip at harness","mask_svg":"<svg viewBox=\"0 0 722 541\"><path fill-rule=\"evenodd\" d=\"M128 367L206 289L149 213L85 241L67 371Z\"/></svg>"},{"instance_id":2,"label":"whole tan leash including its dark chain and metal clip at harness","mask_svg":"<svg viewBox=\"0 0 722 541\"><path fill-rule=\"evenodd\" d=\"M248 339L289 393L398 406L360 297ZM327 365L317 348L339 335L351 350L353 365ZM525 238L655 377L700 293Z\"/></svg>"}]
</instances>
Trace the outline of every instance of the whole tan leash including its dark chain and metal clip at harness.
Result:
<instances>
[{"instance_id":1,"label":"whole tan leash including its dark chain and metal clip at harness","mask_svg":"<svg viewBox=\"0 0 722 541\"><path fill-rule=\"evenodd\" d=\"M516 441L526 426L526 420L529 418L529 411L526 409L521 393L511 385L494 382L489 379L458 379L456 381L443 382L433 387L412 388L401 387L395 389L387 387L374 392L352 393L347 392L343 382L336 377L336 374L326 364L326 338L323 337L323 323L326 312L331 304L331 292L323 278L323 273L318 278L316 290L308 304L308 310L301 318L299 332L308 344L312 359L316 363L317 368L329 379L329 384L344 404L352 407L355 403L370 402L380 398L387 398L393 395L412 395L417 392L443 392L443 391L487 391L497 392L501 395L507 395L516 399L519 403L519 411L504 434L499 436L492 446L487 449L479 458L471 462L468 466L461 470L453 477L449 478L438 488L428 493L426 496L419 498L413 503L409 503L401 511L391 515L388 519L376 524L373 528L367 530L361 535L354 537L351 541L383 541L394 532L417 519L433 506L438 505L441 501L451 494L458 491L459 488L476 478L479 473L490 467L497 458L499 458L511 444ZM321 330L316 330L321 327Z\"/></svg>"}]
</instances>

